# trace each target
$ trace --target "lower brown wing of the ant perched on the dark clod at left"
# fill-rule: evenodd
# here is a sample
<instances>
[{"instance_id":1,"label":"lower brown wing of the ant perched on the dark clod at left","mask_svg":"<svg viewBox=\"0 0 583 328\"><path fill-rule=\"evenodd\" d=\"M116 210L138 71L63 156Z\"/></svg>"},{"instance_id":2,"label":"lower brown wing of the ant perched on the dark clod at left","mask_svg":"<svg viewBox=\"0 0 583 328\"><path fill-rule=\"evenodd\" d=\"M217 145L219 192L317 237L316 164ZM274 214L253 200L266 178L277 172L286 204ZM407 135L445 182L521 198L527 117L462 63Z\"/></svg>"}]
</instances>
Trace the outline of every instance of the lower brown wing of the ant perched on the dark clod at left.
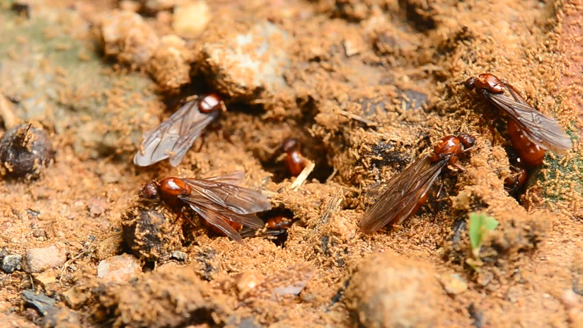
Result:
<instances>
[{"instance_id":1,"label":"lower brown wing of the ant perched on the dark clod at left","mask_svg":"<svg viewBox=\"0 0 583 328\"><path fill-rule=\"evenodd\" d=\"M196 195L196 191L193 191L190 195L179 196L183 202L187 203L192 209L199 212L203 210L208 213L214 213L217 217L227 221L233 221L241 223L243 226L261 229L265 226L265 223L261 219L255 216L255 214L241 214L235 213L230 208L218 204L214 200L209 199L205 195ZM199 213L200 214L200 213ZM212 221L209 221L212 223Z\"/></svg>"}]
</instances>

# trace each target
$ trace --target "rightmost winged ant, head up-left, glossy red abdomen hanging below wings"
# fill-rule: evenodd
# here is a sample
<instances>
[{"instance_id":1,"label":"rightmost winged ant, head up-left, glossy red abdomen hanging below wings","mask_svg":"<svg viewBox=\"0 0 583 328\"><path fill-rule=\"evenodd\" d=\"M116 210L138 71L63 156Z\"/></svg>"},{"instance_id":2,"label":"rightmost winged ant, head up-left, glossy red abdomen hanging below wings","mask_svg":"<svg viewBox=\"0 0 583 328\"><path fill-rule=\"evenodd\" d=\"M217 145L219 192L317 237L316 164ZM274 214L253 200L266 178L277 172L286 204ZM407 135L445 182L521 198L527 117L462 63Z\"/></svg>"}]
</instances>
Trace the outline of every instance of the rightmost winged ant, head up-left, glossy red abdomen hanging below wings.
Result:
<instances>
[{"instance_id":1,"label":"rightmost winged ant, head up-left, glossy red abdomen hanging below wings","mask_svg":"<svg viewBox=\"0 0 583 328\"><path fill-rule=\"evenodd\" d=\"M556 120L532 108L509 83L493 74L484 73L470 77L464 82L468 90L476 90L502 113L508 120L508 136L523 163L536 166L543 163L545 150L565 154L573 147L569 136L563 132Z\"/></svg>"}]
</instances>

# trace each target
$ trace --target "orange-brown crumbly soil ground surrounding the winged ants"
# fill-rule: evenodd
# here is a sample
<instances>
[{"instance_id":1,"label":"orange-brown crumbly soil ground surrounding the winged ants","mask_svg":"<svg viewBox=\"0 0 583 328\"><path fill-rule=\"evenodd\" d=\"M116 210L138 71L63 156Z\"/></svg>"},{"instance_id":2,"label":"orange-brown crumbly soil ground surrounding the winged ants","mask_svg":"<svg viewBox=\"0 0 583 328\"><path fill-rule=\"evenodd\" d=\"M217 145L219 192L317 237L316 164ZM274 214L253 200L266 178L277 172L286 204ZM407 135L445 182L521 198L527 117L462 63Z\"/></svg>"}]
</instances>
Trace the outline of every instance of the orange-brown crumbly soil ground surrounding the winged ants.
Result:
<instances>
[{"instance_id":1,"label":"orange-brown crumbly soil ground surrounding the winged ants","mask_svg":"<svg viewBox=\"0 0 583 328\"><path fill-rule=\"evenodd\" d=\"M0 0L0 40L0 327L583 327L581 1ZM515 197L506 119L461 83L483 72L573 140ZM178 167L133 165L208 92L227 110ZM478 141L439 200L359 231L455 133ZM287 231L243 246L139 195L233 171ZM500 223L477 256L469 213Z\"/></svg>"}]
</instances>

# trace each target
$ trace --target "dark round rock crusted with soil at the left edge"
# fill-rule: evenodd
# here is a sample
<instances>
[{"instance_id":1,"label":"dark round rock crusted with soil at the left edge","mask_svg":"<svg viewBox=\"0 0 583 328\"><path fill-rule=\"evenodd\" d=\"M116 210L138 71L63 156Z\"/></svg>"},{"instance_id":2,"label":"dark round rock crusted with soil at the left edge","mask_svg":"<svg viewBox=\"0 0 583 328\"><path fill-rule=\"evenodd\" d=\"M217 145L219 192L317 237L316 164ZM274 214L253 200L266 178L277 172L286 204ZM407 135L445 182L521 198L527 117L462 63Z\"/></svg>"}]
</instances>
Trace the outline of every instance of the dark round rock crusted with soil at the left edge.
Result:
<instances>
[{"instance_id":1,"label":"dark round rock crusted with soil at the left edge","mask_svg":"<svg viewBox=\"0 0 583 328\"><path fill-rule=\"evenodd\" d=\"M0 139L0 174L36 179L53 160L49 136L32 124L14 126Z\"/></svg>"}]
</instances>

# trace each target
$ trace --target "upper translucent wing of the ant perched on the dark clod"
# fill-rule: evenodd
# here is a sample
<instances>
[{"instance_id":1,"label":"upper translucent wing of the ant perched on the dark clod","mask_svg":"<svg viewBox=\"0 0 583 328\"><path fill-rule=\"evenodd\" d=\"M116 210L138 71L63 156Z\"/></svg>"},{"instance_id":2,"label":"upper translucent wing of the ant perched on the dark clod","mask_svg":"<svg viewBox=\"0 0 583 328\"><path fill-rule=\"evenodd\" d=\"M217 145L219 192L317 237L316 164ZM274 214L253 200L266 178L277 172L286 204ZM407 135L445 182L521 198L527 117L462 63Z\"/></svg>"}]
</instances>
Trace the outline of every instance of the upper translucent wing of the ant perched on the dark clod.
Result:
<instances>
[{"instance_id":1,"label":"upper translucent wing of the ant perched on the dark clod","mask_svg":"<svg viewBox=\"0 0 583 328\"><path fill-rule=\"evenodd\" d=\"M184 196L185 200L188 197L203 197L237 214L251 214L271 209L271 202L260 191L231 184L229 182L233 180L233 176L225 177L225 180L220 180L220 176L211 179L182 179L192 188L190 195Z\"/></svg>"}]
</instances>

